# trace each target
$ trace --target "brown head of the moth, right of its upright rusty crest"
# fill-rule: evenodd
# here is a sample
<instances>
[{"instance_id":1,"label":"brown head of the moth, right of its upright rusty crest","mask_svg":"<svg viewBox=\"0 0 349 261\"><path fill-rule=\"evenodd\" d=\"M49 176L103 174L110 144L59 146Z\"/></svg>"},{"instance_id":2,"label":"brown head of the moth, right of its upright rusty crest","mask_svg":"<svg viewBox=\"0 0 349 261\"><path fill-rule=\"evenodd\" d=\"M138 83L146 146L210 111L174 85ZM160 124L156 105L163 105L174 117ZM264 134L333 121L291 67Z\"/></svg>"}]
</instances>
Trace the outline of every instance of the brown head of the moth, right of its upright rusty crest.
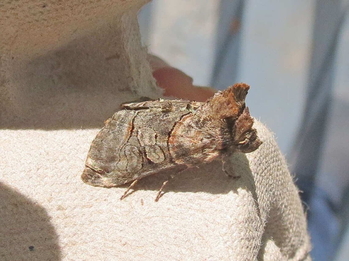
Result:
<instances>
[{"instance_id":1,"label":"brown head of the moth, right of its upright rusty crest","mask_svg":"<svg viewBox=\"0 0 349 261\"><path fill-rule=\"evenodd\" d=\"M248 153L258 149L262 141L258 139L257 130L252 128L253 118L248 107L245 107L240 116L233 122L231 134L233 146L240 152Z\"/></svg>"}]
</instances>

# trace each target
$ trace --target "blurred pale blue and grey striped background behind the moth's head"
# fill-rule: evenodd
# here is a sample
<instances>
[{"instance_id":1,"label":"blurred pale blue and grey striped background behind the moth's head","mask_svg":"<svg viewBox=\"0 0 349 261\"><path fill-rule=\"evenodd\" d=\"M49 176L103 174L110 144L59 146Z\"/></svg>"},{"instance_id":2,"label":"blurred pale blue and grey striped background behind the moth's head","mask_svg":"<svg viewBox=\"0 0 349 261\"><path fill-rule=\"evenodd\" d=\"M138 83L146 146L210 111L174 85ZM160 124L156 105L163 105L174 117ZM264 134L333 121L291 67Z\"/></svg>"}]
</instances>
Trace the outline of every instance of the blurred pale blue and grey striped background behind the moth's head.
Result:
<instances>
[{"instance_id":1,"label":"blurred pale blue and grey striped background behind the moth's head","mask_svg":"<svg viewBox=\"0 0 349 261\"><path fill-rule=\"evenodd\" d=\"M225 89L277 138L307 210L315 261L349 260L349 0L154 0L144 45Z\"/></svg>"}]
</instances>

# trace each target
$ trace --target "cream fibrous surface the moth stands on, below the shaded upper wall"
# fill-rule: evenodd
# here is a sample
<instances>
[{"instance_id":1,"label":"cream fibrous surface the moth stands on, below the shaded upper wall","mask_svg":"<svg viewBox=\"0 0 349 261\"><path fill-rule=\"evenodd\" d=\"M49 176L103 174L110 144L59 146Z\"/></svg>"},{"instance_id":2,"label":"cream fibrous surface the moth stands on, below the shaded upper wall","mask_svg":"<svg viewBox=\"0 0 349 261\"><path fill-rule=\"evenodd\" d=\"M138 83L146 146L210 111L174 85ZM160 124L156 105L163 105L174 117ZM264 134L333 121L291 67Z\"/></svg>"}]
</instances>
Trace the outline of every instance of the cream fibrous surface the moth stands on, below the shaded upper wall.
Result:
<instances>
[{"instance_id":1,"label":"cream fibrous surface the moth stands on, below the shaded upper wall","mask_svg":"<svg viewBox=\"0 0 349 261\"><path fill-rule=\"evenodd\" d=\"M226 177L220 162L202 165L171 180L158 202L161 174L122 201L125 188L80 180L98 129L1 130L0 253L5 260L305 260L298 191L272 134L255 125L264 143L233 156L239 179Z\"/></svg>"}]
</instances>

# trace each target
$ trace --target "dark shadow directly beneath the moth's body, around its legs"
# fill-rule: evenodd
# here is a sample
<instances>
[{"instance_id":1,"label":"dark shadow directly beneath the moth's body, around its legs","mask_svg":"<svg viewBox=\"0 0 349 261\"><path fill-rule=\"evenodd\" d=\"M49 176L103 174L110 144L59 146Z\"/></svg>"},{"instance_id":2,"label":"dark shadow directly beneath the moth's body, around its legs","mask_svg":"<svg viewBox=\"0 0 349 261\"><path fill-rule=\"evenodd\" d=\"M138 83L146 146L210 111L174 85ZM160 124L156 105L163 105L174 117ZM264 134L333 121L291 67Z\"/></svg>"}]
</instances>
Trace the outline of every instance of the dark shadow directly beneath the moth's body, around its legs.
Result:
<instances>
[{"instance_id":1,"label":"dark shadow directly beneath the moth's body, around its legs","mask_svg":"<svg viewBox=\"0 0 349 261\"><path fill-rule=\"evenodd\" d=\"M184 171L181 171L180 168L169 169L140 179L135 185L134 191L156 191L159 190L164 181L169 180L163 190L164 193L173 191L227 194L230 191L237 192L238 188L243 187L255 194L253 175L244 153L234 153L225 168L228 173L232 174L232 177L227 176L222 171L221 160L187 168ZM178 172L180 173L176 175ZM175 176L171 179L171 175ZM128 185L129 183L125 184L125 187L128 187ZM128 196L134 191L130 191Z\"/></svg>"}]
</instances>

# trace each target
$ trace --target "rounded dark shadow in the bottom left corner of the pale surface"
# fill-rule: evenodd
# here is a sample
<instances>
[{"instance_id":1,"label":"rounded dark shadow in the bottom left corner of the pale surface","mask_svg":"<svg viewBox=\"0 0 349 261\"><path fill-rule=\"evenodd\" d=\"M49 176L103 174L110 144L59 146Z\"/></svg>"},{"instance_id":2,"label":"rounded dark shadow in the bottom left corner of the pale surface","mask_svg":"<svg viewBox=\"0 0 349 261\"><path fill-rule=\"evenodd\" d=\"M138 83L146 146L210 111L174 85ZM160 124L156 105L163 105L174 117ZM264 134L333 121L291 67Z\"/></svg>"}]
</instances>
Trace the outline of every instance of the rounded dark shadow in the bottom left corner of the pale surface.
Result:
<instances>
[{"instance_id":1,"label":"rounded dark shadow in the bottom left corner of the pale surface","mask_svg":"<svg viewBox=\"0 0 349 261\"><path fill-rule=\"evenodd\" d=\"M46 210L2 183L0 259L61 260L58 235Z\"/></svg>"}]
</instances>

